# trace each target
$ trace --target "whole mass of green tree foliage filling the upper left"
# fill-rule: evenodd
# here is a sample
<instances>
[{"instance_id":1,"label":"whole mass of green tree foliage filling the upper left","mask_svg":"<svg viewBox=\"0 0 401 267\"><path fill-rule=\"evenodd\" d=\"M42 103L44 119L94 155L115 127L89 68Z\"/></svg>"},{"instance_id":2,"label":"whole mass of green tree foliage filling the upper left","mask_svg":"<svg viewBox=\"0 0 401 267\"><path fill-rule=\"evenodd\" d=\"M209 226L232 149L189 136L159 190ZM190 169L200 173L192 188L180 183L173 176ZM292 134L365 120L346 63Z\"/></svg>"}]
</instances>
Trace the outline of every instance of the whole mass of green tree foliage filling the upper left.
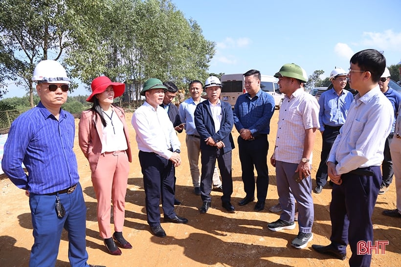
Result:
<instances>
[{"instance_id":1,"label":"whole mass of green tree foliage filling the upper left","mask_svg":"<svg viewBox=\"0 0 401 267\"><path fill-rule=\"evenodd\" d=\"M43 59L60 61L88 89L106 75L139 99L151 77L179 88L206 79L215 54L215 43L171 0L2 0L0 37L0 98L5 82L17 81L31 106L32 72Z\"/></svg>"}]
</instances>

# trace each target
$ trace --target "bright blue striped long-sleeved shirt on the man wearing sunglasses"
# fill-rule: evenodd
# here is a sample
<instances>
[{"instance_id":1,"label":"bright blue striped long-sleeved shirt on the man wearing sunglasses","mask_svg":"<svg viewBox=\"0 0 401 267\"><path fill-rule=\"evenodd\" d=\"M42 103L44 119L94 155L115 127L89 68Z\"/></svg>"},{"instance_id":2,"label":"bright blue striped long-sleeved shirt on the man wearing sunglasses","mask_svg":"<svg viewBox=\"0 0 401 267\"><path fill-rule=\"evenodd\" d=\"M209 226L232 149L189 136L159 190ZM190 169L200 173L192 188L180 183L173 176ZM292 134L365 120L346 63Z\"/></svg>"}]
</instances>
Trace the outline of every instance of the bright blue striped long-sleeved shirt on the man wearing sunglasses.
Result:
<instances>
[{"instance_id":1,"label":"bright blue striped long-sleeved shirt on the man wearing sunglasses","mask_svg":"<svg viewBox=\"0 0 401 267\"><path fill-rule=\"evenodd\" d=\"M43 195L67 189L79 180L72 149L74 136L74 117L70 113L60 109L57 120L39 102L11 124L1 167L17 187L30 193Z\"/></svg>"}]
</instances>

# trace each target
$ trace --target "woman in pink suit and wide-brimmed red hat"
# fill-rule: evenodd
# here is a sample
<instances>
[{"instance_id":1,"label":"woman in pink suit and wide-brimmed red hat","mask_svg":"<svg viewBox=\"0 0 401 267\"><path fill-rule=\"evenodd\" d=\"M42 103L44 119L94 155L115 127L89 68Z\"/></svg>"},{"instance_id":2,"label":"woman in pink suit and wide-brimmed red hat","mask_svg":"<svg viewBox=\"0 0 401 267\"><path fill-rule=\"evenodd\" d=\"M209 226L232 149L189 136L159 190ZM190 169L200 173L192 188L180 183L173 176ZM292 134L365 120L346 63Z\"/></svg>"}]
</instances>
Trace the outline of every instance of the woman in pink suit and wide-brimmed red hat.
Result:
<instances>
[{"instance_id":1,"label":"woman in pink suit and wide-brimmed red hat","mask_svg":"<svg viewBox=\"0 0 401 267\"><path fill-rule=\"evenodd\" d=\"M92 102L93 106L87 111L82 111L79 121L79 146L88 158L92 172L100 237L104 239L110 254L121 255L118 246L132 248L122 235L125 194L132 156L125 112L112 103L115 97L123 94L125 85L113 83L108 77L100 76L92 81L90 87L92 94L87 101ZM114 212L112 235L110 200Z\"/></svg>"}]
</instances>

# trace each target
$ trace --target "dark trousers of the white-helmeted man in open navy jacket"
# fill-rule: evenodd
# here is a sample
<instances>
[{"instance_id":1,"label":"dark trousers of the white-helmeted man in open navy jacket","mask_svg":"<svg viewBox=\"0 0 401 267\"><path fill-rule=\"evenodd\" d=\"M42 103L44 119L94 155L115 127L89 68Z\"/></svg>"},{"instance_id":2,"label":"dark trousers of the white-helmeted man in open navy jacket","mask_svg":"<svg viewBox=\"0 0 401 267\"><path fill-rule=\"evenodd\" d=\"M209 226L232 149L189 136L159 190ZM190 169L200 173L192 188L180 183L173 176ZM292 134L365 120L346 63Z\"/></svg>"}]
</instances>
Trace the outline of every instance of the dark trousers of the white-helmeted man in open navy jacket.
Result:
<instances>
[{"instance_id":1,"label":"dark trousers of the white-helmeted man in open navy jacket","mask_svg":"<svg viewBox=\"0 0 401 267\"><path fill-rule=\"evenodd\" d=\"M212 201L212 179L214 167L217 163L222 176L222 202L230 202L232 194L231 151L224 153L222 149L201 149L201 199L203 202Z\"/></svg>"}]
</instances>

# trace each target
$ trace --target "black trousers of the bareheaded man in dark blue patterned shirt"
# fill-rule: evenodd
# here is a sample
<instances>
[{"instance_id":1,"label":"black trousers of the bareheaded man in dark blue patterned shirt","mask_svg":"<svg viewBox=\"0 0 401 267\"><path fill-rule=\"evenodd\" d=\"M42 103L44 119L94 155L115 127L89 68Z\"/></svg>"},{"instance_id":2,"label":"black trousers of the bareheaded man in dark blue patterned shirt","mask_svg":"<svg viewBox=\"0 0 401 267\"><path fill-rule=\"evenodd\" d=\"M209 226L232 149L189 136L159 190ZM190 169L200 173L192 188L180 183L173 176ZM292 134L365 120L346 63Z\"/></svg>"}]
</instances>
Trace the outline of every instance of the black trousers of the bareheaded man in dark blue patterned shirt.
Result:
<instances>
[{"instance_id":1,"label":"black trousers of the bareheaded man in dark blue patterned shirt","mask_svg":"<svg viewBox=\"0 0 401 267\"><path fill-rule=\"evenodd\" d=\"M238 137L238 151L241 161L242 181L244 182L244 191L247 198L253 198L255 195L255 166L256 178L256 196L258 201L265 202L268 187L267 171L267 134L260 136L255 140L244 140Z\"/></svg>"}]
</instances>

